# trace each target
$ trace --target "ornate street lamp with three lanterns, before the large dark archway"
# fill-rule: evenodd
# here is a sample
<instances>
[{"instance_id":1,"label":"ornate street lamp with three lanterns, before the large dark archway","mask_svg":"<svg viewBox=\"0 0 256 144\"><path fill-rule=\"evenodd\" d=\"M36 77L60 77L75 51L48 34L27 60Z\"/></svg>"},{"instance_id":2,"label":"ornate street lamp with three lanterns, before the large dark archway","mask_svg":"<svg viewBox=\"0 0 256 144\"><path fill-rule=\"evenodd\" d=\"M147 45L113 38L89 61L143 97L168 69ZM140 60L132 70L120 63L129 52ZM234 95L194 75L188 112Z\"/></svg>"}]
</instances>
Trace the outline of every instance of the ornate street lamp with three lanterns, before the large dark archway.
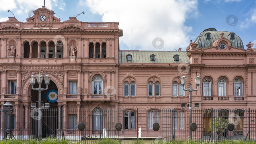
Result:
<instances>
[{"instance_id":1,"label":"ornate street lamp with three lanterns, before the large dark archway","mask_svg":"<svg viewBox=\"0 0 256 144\"><path fill-rule=\"evenodd\" d=\"M30 78L30 83L32 85L32 89L38 91L38 112L39 112L39 116L40 116L40 115L42 115L41 109L44 108L41 106L41 91L48 89L48 85L50 83L50 76L48 76L47 73L44 76L46 88L41 88L41 84L43 82L43 75L41 75L40 72L39 72L39 75L37 75L36 77L32 73L32 75L30 75L29 78ZM34 88L36 78L37 78L37 82L39 84L38 88ZM35 105L35 103L32 103L32 105ZM41 118L38 119L38 139L40 139L40 140L42 139L42 119Z\"/></svg>"}]
</instances>

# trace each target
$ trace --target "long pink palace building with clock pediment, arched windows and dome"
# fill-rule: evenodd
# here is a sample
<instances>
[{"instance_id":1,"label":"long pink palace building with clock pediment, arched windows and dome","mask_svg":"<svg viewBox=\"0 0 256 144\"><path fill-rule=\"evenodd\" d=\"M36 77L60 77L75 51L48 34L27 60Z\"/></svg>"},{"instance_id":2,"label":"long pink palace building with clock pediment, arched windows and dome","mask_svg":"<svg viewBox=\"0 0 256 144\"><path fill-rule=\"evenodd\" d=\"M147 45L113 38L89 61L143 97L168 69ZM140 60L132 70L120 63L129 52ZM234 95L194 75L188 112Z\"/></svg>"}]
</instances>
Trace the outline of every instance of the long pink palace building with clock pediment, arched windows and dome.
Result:
<instances>
[{"instance_id":1,"label":"long pink palace building with clock pediment, arched windows and dome","mask_svg":"<svg viewBox=\"0 0 256 144\"><path fill-rule=\"evenodd\" d=\"M0 23L0 102L3 105L9 100L15 110L29 111L31 103L38 101L38 91L32 90L29 76L47 73L50 84L42 92L42 101L58 109L58 133L62 107L78 110L75 125L83 121L88 130L95 129L91 116L97 110L122 110L120 115L129 117L129 125L134 125L133 112L147 110L145 116L152 119L146 119L143 132L148 133L153 121L163 117L163 109L181 110L180 104L188 103L189 93L181 90L182 74L187 77L185 88L190 84L196 88L194 78L201 77L199 90L192 92L192 102L199 103L202 115L211 108L220 109L216 113L219 116L229 116L232 109L256 108L256 50L251 42L244 49L235 33L206 29L186 51L125 51L119 50L122 30L117 22L82 22L76 17L60 22L53 11L44 7L33 12L27 22L10 17ZM57 94L47 95L50 90ZM125 127L125 118L118 119L118 114L103 113L115 118L104 120L102 127L112 129L116 122ZM64 112L66 135L69 115ZM22 123L15 119L15 129L32 129L28 113L16 111L15 116L26 117ZM3 119L1 122L3 127ZM205 126L203 129L207 131Z\"/></svg>"}]
</instances>

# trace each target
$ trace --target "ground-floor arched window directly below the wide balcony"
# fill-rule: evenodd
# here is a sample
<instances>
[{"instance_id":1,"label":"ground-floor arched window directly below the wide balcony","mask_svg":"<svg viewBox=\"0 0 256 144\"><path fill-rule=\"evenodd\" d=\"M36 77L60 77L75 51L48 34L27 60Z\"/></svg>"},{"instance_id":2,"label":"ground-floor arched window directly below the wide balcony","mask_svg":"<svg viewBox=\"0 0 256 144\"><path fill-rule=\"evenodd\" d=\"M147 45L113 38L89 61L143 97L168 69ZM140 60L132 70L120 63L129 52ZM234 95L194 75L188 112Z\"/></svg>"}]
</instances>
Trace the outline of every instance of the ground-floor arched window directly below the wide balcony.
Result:
<instances>
[{"instance_id":1,"label":"ground-floor arched window directly below the wide balcony","mask_svg":"<svg viewBox=\"0 0 256 144\"><path fill-rule=\"evenodd\" d=\"M93 130L101 130L103 129L103 115L102 115L102 109L99 107L96 107L93 109Z\"/></svg>"}]
</instances>

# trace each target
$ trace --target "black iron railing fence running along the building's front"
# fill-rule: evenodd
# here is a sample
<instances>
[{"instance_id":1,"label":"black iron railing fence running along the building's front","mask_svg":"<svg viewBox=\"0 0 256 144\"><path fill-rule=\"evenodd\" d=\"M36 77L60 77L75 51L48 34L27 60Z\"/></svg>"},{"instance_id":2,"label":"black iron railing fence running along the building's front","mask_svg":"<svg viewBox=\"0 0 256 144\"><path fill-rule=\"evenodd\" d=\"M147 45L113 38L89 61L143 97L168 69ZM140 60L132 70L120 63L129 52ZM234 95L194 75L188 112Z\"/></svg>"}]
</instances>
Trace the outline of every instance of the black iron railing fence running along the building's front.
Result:
<instances>
[{"instance_id":1,"label":"black iron railing fence running along the building's front","mask_svg":"<svg viewBox=\"0 0 256 144\"><path fill-rule=\"evenodd\" d=\"M0 139L36 139L38 120L42 137L94 142L102 138L120 141L256 140L255 109L13 109L0 112Z\"/></svg>"}]
</instances>

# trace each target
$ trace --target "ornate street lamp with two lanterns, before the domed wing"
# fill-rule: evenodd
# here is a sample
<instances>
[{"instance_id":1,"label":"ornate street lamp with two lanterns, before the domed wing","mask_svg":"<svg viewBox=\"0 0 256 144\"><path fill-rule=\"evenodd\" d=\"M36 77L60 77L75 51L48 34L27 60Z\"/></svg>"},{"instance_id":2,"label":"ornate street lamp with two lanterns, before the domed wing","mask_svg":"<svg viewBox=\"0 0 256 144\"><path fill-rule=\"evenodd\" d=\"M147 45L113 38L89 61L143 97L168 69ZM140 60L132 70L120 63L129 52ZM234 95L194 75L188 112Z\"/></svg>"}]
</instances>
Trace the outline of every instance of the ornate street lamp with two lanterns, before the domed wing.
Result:
<instances>
[{"instance_id":1,"label":"ornate street lamp with two lanterns, before the domed wing","mask_svg":"<svg viewBox=\"0 0 256 144\"><path fill-rule=\"evenodd\" d=\"M192 84L189 85L189 89L184 89L184 86L185 86L185 82L186 82L186 76L184 76L184 74L180 77L180 81L181 81L181 85L183 86L183 90L184 91L188 91L189 92L189 126L191 125L192 123L192 92L193 91L197 91L198 90L198 86L200 85L200 80L201 80L201 77L199 77L198 75L195 77L195 81L196 81L196 86L197 86L197 89L192 89ZM182 107L184 107L184 104L181 105ZM199 106L199 103L195 103L195 106L198 107ZM192 140L192 131L191 129L189 129L189 137L188 137L189 140Z\"/></svg>"}]
</instances>

